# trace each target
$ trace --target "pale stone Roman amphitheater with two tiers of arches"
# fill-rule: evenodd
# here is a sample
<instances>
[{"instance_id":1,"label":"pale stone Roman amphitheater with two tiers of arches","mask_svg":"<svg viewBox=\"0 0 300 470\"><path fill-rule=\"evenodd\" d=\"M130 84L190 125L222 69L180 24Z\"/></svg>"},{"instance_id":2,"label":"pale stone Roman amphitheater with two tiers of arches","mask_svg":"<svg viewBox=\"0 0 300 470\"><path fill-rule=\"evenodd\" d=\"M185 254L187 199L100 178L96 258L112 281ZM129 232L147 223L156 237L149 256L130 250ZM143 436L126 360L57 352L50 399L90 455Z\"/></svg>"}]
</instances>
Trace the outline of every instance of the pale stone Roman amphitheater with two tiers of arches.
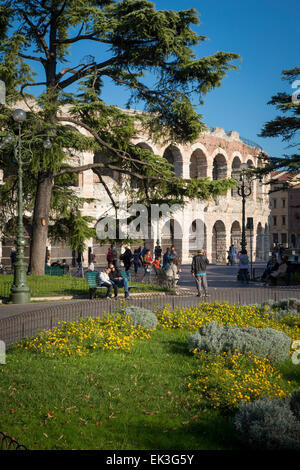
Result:
<instances>
[{"instance_id":1,"label":"pale stone Roman amphitheater with two tiers of arches","mask_svg":"<svg viewBox=\"0 0 300 470\"><path fill-rule=\"evenodd\" d=\"M239 137L236 131L228 134L222 128L213 128L211 131L201 133L199 138L190 145L164 145L159 146L147 140L145 136L136 138L136 145L147 148L155 154L164 156L174 166L177 176L183 178L204 178L213 180L226 177L239 178L241 165L259 166L258 158L260 148ZM72 157L74 164L89 164L99 161L101 156L91 153L82 153ZM122 182L114 174L103 176L105 183L116 193L116 185L122 193ZM251 195L246 200L246 218L253 218L253 231L247 231L247 249L250 242L253 247L254 260L266 260L270 250L269 239L269 197L267 187L263 182L254 181L251 185ZM98 176L88 170L79 174L76 187L78 195L93 199L86 202L83 214L92 216L96 221L105 212L104 208L111 205L110 199ZM212 263L226 263L227 250L231 244L240 249L242 225L242 198L237 189L228 191L227 195L212 198L209 201L187 201L180 211L177 211L168 226L166 220L161 219L157 233L151 240L145 240L145 246L151 250L158 239L162 248L174 244L182 263L189 263L195 251L202 247L206 250ZM167 228L170 227L170 230ZM2 242L2 263L10 264L11 241ZM87 249L83 254L84 265L87 265L89 255L96 254L97 264L106 263L108 245L100 245L98 240L88 240ZM66 258L72 262L76 253L63 245L51 246L48 250L51 261ZM28 250L27 250L28 256Z\"/></svg>"}]
</instances>

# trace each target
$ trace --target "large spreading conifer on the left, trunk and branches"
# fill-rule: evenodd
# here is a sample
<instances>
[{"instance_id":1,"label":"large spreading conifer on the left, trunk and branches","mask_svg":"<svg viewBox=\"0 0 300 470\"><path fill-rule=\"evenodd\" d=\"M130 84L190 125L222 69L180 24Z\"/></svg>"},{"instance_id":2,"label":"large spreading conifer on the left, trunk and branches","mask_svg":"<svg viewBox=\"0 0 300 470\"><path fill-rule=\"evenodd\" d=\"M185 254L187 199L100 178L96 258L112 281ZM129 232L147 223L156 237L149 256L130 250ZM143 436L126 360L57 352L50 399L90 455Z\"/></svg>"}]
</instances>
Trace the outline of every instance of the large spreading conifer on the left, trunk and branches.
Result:
<instances>
[{"instance_id":1,"label":"large spreading conifer on the left, trunk and branches","mask_svg":"<svg viewBox=\"0 0 300 470\"><path fill-rule=\"evenodd\" d=\"M234 53L196 57L193 48L206 38L192 30L199 23L195 10L158 11L145 0L7 0L0 5L0 78L7 86L8 105L1 107L3 132L14 129L10 108L17 101L30 108L23 140L31 139L33 152L27 168L34 197L33 273L43 273L49 214L59 212L55 189L58 194L68 175L97 171L112 203L114 195L101 176L108 169L139 181L145 200L149 188L154 199L183 201L221 194L232 185L176 178L165 159L132 144L137 119L151 138L195 139L205 126L192 96L202 103L235 68ZM80 43L93 55L78 60L78 52L71 55ZM39 68L37 79L30 64ZM137 118L106 105L101 99L106 79L126 89L128 107L144 103L147 113ZM36 86L43 91L33 100L29 92ZM63 106L68 106L68 117L62 117ZM79 133L78 126L89 137ZM42 148L41 133L52 138L50 150ZM106 160L85 166L73 162L70 167L67 157L75 150L104 152Z\"/></svg>"}]
</instances>

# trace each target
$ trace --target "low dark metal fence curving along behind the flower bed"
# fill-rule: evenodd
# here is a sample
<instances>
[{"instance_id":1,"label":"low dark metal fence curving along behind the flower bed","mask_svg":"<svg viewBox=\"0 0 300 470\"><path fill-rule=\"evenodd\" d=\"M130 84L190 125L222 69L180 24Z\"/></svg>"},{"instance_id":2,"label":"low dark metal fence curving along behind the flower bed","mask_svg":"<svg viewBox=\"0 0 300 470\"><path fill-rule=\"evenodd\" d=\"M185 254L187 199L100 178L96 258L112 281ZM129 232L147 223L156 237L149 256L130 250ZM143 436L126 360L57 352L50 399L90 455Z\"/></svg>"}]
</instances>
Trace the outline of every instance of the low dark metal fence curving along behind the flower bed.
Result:
<instances>
[{"instance_id":1,"label":"low dark metal fence curving along behind the flower bed","mask_svg":"<svg viewBox=\"0 0 300 470\"><path fill-rule=\"evenodd\" d=\"M229 304L261 304L272 299L279 301L288 297L300 299L300 291L292 289L274 288L240 288L240 289L210 289L209 301L227 302ZM149 309L169 304L171 309L180 307L194 307L201 300L194 295L144 295L126 300L126 304L137 305ZM112 313L124 305L124 299L108 300L80 300L62 302L52 306L41 306L38 310L24 312L0 319L0 340L6 345L19 341L24 337L34 337L45 329L55 328L58 322L72 321L85 317L103 318L105 313Z\"/></svg>"}]
</instances>

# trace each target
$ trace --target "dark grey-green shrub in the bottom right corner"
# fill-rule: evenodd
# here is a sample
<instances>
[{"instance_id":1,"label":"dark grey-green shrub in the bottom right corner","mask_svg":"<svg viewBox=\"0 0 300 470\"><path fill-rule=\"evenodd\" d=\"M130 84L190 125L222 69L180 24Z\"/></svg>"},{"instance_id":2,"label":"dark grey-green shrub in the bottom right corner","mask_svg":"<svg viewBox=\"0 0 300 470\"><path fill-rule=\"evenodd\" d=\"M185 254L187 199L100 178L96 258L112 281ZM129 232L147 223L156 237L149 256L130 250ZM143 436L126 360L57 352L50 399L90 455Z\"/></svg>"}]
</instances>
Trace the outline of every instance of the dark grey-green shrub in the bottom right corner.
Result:
<instances>
[{"instance_id":1,"label":"dark grey-green shrub in the bottom right corner","mask_svg":"<svg viewBox=\"0 0 300 470\"><path fill-rule=\"evenodd\" d=\"M293 394L294 395L294 394ZM295 397L262 398L242 404L233 424L237 437L255 449L300 450L300 421L292 410Z\"/></svg>"}]
</instances>

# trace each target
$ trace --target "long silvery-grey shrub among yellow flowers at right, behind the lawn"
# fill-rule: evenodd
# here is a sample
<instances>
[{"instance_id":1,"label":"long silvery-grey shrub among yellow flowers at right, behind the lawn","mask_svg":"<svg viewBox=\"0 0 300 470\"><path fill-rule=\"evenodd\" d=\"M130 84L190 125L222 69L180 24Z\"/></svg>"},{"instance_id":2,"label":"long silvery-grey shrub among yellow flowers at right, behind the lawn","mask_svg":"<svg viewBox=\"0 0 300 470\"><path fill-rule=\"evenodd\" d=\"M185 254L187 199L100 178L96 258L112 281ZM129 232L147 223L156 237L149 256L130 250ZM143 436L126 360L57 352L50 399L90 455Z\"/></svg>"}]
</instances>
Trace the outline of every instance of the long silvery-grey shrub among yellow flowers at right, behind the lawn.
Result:
<instances>
[{"instance_id":1,"label":"long silvery-grey shrub among yellow flowers at right, behind the lawn","mask_svg":"<svg viewBox=\"0 0 300 470\"><path fill-rule=\"evenodd\" d=\"M260 358L284 362L289 358L291 339L273 328L237 328L211 322L190 337L190 349L240 353L251 352Z\"/></svg>"}]
</instances>

